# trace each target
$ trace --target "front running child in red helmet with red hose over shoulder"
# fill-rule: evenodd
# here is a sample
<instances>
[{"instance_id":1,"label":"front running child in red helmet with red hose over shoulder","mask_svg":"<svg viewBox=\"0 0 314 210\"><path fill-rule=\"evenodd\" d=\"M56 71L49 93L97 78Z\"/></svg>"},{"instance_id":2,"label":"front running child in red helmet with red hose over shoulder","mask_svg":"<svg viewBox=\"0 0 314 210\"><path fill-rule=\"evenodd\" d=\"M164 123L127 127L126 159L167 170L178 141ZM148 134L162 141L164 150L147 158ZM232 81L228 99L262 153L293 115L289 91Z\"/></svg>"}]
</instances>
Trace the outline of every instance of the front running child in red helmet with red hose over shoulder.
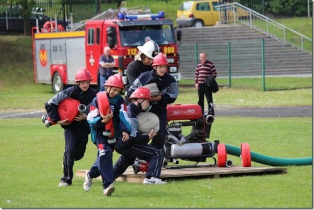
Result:
<instances>
[{"instance_id":1,"label":"front running child in red helmet with red hose over shoulder","mask_svg":"<svg viewBox=\"0 0 314 210\"><path fill-rule=\"evenodd\" d=\"M126 110L125 101L119 93L124 89L121 75L110 76L106 83L105 91L97 94L93 99L87 121L91 128L92 141L98 148L95 163L86 173L83 189L89 191L92 179L100 175L103 179L104 195L111 196L115 188L113 186L112 153L116 139L121 135L124 140L129 139L130 128L121 123L120 109ZM112 123L111 123L112 121ZM114 127L114 128L108 128Z\"/></svg>"}]
</instances>

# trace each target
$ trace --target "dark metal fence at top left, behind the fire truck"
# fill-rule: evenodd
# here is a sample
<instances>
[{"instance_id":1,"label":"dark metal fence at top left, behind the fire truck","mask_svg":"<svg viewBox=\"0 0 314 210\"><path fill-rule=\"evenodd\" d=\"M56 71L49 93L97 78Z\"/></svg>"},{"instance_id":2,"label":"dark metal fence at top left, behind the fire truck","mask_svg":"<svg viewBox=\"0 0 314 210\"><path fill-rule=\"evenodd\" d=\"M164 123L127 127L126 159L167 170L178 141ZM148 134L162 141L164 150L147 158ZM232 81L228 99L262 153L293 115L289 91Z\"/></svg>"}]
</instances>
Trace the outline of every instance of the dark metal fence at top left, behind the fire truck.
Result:
<instances>
[{"instance_id":1,"label":"dark metal fence at top left, behind the fire truck","mask_svg":"<svg viewBox=\"0 0 314 210\"><path fill-rule=\"evenodd\" d=\"M69 20L70 14L73 14L73 21L79 22L90 19L96 14L107 9L118 9L121 5L121 0L29 0L29 14L33 7L45 9L44 15L60 20ZM6 19L6 25L0 26L7 30L23 30L23 5L17 1L0 1L0 18ZM5 25L3 20L3 24ZM31 26L35 25L35 17L31 16Z\"/></svg>"}]
</instances>

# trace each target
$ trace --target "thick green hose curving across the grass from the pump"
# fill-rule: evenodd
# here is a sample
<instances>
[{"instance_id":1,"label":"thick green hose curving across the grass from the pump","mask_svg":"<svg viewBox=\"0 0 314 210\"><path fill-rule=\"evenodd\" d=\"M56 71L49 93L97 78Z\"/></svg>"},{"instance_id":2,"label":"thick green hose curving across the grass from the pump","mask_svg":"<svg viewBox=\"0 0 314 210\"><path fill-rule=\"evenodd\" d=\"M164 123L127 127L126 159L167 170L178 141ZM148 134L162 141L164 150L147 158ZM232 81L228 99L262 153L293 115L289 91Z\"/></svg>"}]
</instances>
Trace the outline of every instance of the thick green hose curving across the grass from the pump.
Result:
<instances>
[{"instance_id":1,"label":"thick green hose curving across the grass from the pump","mask_svg":"<svg viewBox=\"0 0 314 210\"><path fill-rule=\"evenodd\" d=\"M235 146L227 145L227 154L239 157L241 154L240 148ZM288 166L288 165L312 165L313 158L312 157L304 157L304 158L279 158L279 157L270 157L261 155L255 152L251 152L251 160L254 162L262 163L265 165L272 166Z\"/></svg>"}]
</instances>

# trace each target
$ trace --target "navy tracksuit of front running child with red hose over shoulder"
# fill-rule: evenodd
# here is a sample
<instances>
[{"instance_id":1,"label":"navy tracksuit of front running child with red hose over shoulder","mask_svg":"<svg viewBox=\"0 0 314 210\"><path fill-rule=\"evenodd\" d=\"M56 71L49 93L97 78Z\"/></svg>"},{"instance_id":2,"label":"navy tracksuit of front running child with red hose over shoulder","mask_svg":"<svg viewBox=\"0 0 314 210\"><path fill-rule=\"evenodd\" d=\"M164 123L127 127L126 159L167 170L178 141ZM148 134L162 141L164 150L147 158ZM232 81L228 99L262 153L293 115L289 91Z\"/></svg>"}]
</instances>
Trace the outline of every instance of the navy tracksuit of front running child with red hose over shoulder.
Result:
<instances>
[{"instance_id":1,"label":"navy tracksuit of front running child with red hose over shoulder","mask_svg":"<svg viewBox=\"0 0 314 210\"><path fill-rule=\"evenodd\" d=\"M95 142L98 148L98 153L95 163L90 168L88 175L90 178L97 178L100 175L103 180L104 189L113 183L113 169L112 169L112 152L114 150L115 142L108 140L108 136L104 135L105 123L101 121L101 117L98 109L97 97L93 100L91 111L87 116L87 121L91 128L92 141ZM128 132L123 123L120 123L119 111L122 107L125 107L125 101L117 95L114 98L109 98L110 109L113 112L113 125L114 125L114 137L118 139L123 131Z\"/></svg>"}]
</instances>

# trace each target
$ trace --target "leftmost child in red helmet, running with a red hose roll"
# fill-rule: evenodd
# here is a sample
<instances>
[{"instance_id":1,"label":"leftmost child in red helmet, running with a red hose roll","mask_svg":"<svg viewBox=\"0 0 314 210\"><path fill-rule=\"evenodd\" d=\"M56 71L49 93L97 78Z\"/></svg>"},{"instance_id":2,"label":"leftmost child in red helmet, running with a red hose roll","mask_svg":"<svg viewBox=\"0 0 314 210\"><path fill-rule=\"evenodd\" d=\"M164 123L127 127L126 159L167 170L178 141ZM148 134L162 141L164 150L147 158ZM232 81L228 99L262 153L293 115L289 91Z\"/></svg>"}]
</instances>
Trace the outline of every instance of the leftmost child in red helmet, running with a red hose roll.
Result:
<instances>
[{"instance_id":1,"label":"leftmost child in red helmet, running with a red hose roll","mask_svg":"<svg viewBox=\"0 0 314 210\"><path fill-rule=\"evenodd\" d=\"M87 114L89 106L97 94L97 91L90 87L91 79L89 71L86 68L80 68L74 80L77 82L77 85L64 89L45 103L47 114L52 123L58 124L64 129L63 177L59 186L70 186L72 184L74 161L84 157L88 134L90 133L90 128L86 120ZM69 98L78 100L80 104L87 107L84 112L81 112L75 117L73 122L69 122L69 119L61 120L57 111L58 105ZM77 109L78 107L75 108Z\"/></svg>"}]
</instances>

